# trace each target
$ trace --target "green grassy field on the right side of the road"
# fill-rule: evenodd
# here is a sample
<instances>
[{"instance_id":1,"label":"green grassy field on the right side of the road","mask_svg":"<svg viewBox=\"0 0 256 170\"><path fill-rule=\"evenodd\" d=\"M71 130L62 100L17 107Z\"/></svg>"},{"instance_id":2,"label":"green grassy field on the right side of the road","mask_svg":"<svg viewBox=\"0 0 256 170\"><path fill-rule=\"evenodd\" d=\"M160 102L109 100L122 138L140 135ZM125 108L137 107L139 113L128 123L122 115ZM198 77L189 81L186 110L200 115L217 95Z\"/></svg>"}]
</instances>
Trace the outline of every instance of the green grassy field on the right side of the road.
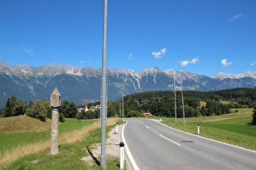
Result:
<instances>
[{"instance_id":1,"label":"green grassy field on the right side of the road","mask_svg":"<svg viewBox=\"0 0 256 170\"><path fill-rule=\"evenodd\" d=\"M256 150L256 125L249 125L252 121L252 108L238 109L238 113L231 113L213 117L163 118L163 123L179 130L197 134L200 125L200 135L222 142Z\"/></svg>"}]
</instances>

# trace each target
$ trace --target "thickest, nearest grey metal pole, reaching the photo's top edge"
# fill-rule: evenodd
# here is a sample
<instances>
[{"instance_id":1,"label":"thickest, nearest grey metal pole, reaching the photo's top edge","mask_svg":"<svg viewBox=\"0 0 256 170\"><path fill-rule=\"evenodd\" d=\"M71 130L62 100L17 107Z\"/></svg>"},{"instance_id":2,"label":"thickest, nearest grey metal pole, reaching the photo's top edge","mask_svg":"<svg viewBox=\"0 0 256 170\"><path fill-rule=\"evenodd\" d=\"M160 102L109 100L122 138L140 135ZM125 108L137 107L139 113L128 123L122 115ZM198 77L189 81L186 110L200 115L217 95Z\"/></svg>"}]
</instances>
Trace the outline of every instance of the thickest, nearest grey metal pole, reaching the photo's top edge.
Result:
<instances>
[{"instance_id":1,"label":"thickest, nearest grey metal pole, reaching the photo's top edge","mask_svg":"<svg viewBox=\"0 0 256 170\"><path fill-rule=\"evenodd\" d=\"M102 45L102 90L101 90L101 127L102 127L102 146L101 146L101 165L106 168L106 13L107 0L104 0L104 23L103 23L103 45Z\"/></svg>"}]
</instances>

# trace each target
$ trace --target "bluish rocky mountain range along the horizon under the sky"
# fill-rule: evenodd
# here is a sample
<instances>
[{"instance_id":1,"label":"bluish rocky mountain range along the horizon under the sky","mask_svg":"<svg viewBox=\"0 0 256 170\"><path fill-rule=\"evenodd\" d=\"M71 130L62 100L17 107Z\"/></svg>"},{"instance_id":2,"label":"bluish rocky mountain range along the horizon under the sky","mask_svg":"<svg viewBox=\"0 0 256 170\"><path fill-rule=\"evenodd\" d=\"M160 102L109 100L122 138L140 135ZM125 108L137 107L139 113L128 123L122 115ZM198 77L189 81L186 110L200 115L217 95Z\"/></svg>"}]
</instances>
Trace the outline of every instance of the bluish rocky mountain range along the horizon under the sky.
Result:
<instances>
[{"instance_id":1,"label":"bluish rocky mountain range along the horizon under the sky","mask_svg":"<svg viewBox=\"0 0 256 170\"><path fill-rule=\"evenodd\" d=\"M50 100L54 87L58 87L62 100L85 104L100 100L101 68L50 64L47 66L10 66L0 62L0 108L7 98L15 95L18 100ZM174 80L176 90L181 84L184 90L215 91L236 87L256 87L256 71L242 74L215 74L212 78L193 74L189 71L160 70L151 67L133 72L132 70L106 70L108 100L118 100L124 95L141 91L172 91Z\"/></svg>"}]
</instances>

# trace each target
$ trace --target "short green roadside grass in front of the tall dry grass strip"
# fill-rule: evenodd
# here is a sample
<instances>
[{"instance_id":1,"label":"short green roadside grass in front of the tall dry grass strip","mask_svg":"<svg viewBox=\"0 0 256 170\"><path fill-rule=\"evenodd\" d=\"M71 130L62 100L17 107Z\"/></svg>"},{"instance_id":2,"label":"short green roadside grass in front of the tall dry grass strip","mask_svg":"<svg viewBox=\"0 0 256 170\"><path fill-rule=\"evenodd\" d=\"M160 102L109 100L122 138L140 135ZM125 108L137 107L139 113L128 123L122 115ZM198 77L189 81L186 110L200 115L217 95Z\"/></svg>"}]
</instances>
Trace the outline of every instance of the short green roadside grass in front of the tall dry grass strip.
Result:
<instances>
[{"instance_id":1,"label":"short green roadside grass in front of the tall dry grass strip","mask_svg":"<svg viewBox=\"0 0 256 170\"><path fill-rule=\"evenodd\" d=\"M115 125L107 126L106 133ZM89 155L93 143L101 142L101 130L93 130L88 138L81 142L64 143L59 146L58 155L50 155L50 148L27 155L8 164L2 169L102 169L100 156L95 157L93 164L86 164L81 158ZM119 169L119 158L106 155L106 169Z\"/></svg>"}]
</instances>

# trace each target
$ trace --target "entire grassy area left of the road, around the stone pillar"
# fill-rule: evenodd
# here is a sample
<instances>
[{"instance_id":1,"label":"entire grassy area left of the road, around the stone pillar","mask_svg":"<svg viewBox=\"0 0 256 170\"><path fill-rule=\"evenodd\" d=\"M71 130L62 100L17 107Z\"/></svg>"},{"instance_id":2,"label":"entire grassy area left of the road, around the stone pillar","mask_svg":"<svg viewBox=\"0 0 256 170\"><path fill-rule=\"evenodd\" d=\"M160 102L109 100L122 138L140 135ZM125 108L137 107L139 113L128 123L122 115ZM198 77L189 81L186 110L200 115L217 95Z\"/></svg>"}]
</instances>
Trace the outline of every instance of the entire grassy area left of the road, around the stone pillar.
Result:
<instances>
[{"instance_id":1,"label":"entire grassy area left of the road, around the stone pillar","mask_svg":"<svg viewBox=\"0 0 256 170\"><path fill-rule=\"evenodd\" d=\"M17 123L15 128L9 122L13 121L13 119L20 120L20 123ZM4 156L0 159L0 169L102 169L100 166L100 156L89 155L89 151L93 149L93 144L101 142L101 129L98 128L99 121L66 119L66 121L60 123L59 140L64 142L59 142L58 155L50 155L50 147L41 147L41 143L49 146L49 122L41 123L36 119L31 120L30 117L26 116L11 117L10 119L3 118L0 121L5 126L9 125L15 131L15 133L11 133L10 130L5 130L5 126L2 125L2 128L0 127L0 138L2 139L0 140L2 148L1 156ZM122 123L119 119L111 119L107 122L106 133L115 127L116 122ZM36 132L38 130L30 130L28 128L35 126L38 126L40 129L39 132ZM16 130L16 128L20 128L20 133L17 132L19 130ZM28 132L25 132L26 130ZM63 140L60 138L63 138ZM69 138L72 140L69 140ZM29 143L31 143L32 147L37 147L38 144L38 147L41 147L41 149L32 152L26 151L26 148L30 146L27 145ZM15 148L18 148L15 150L17 152L22 151L20 148L22 149L23 147L24 153L29 154L19 154L18 157L16 156L16 152L10 152L10 156L4 154L9 153L7 151L12 151ZM15 156L15 158L11 156ZM80 160L85 156L93 156L93 162L88 164ZM119 159L113 156L107 156L106 168L119 169Z\"/></svg>"}]
</instances>

